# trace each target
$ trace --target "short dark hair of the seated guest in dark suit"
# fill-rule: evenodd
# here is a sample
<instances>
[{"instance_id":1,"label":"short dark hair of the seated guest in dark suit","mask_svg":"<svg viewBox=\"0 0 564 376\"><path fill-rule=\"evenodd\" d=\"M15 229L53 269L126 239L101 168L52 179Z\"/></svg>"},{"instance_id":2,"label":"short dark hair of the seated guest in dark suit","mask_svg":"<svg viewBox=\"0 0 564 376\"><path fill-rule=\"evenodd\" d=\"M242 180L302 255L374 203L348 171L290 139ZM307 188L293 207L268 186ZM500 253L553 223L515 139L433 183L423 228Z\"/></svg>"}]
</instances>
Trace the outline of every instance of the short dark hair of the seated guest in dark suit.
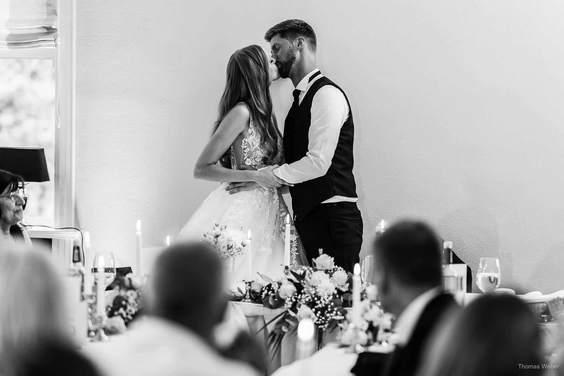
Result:
<instances>
[{"instance_id":1,"label":"short dark hair of the seated guest in dark suit","mask_svg":"<svg viewBox=\"0 0 564 376\"><path fill-rule=\"evenodd\" d=\"M439 286L442 247L437 234L423 222L404 221L387 229L374 243L378 261L406 285Z\"/></svg>"}]
</instances>

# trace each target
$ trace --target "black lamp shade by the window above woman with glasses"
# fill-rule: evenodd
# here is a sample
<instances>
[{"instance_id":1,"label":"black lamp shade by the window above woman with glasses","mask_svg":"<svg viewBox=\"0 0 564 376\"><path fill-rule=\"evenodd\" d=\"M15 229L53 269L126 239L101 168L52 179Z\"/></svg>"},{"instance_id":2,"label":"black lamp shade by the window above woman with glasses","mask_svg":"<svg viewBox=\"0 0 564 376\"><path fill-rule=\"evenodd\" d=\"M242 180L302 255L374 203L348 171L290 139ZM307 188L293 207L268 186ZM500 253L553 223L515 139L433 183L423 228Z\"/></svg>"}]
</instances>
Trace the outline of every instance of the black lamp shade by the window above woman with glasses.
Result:
<instances>
[{"instance_id":1,"label":"black lamp shade by the window above woman with glasses","mask_svg":"<svg viewBox=\"0 0 564 376\"><path fill-rule=\"evenodd\" d=\"M21 175L26 182L49 182L43 148L0 148L0 170Z\"/></svg>"}]
</instances>

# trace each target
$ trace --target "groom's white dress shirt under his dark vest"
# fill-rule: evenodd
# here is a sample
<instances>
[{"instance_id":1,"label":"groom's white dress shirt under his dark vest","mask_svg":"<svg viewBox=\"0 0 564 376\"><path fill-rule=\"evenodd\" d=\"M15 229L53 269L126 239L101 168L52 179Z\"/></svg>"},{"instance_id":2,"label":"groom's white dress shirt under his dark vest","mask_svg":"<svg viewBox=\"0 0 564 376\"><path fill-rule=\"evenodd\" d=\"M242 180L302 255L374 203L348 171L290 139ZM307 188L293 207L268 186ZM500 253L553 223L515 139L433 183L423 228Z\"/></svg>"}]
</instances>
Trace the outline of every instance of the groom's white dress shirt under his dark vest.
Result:
<instances>
[{"instance_id":1,"label":"groom's white dress shirt under his dark vest","mask_svg":"<svg viewBox=\"0 0 564 376\"><path fill-rule=\"evenodd\" d=\"M311 75L318 72L314 69L302 78L296 86L299 94L299 103L310 89L311 85L323 74L319 74L311 82L308 82ZM309 144L307 145L306 156L294 163L285 163L274 170L274 174L288 183L298 184L319 178L327 174L331 160L335 154L341 127L349 118L349 104L341 90L333 85L325 85L319 89L311 103L311 124L309 129ZM333 196L322 204L328 202L349 201L356 202L357 197Z\"/></svg>"}]
</instances>

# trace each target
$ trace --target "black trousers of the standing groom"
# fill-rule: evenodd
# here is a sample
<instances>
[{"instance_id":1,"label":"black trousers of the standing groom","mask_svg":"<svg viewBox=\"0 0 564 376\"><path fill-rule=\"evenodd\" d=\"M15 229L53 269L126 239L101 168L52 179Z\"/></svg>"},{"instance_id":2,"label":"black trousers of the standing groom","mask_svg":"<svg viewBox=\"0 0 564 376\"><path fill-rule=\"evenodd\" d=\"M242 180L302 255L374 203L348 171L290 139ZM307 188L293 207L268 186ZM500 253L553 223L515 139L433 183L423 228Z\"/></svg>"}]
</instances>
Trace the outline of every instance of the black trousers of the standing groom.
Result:
<instances>
[{"instance_id":1,"label":"black trousers of the standing groom","mask_svg":"<svg viewBox=\"0 0 564 376\"><path fill-rule=\"evenodd\" d=\"M301 220L294 219L294 223L310 263L323 248L337 266L352 273L359 262L363 229L356 202L319 204Z\"/></svg>"}]
</instances>

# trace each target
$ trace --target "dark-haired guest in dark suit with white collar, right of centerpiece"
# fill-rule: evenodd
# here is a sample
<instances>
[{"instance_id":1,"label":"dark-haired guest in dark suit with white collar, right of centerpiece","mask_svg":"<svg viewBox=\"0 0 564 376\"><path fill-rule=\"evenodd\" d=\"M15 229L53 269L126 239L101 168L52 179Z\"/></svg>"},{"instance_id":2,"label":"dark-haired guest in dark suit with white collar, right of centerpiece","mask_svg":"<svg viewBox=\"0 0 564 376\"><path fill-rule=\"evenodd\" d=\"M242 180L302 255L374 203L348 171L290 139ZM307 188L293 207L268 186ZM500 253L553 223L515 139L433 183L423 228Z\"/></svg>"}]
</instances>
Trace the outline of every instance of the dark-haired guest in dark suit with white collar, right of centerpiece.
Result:
<instances>
[{"instance_id":1,"label":"dark-haired guest in dark suit with white collar, right of centerpiece","mask_svg":"<svg viewBox=\"0 0 564 376\"><path fill-rule=\"evenodd\" d=\"M382 308L398 319L398 344L384 366L387 376L411 376L430 334L444 314L459 306L442 293L442 244L429 227L393 225L374 244L374 275Z\"/></svg>"}]
</instances>

